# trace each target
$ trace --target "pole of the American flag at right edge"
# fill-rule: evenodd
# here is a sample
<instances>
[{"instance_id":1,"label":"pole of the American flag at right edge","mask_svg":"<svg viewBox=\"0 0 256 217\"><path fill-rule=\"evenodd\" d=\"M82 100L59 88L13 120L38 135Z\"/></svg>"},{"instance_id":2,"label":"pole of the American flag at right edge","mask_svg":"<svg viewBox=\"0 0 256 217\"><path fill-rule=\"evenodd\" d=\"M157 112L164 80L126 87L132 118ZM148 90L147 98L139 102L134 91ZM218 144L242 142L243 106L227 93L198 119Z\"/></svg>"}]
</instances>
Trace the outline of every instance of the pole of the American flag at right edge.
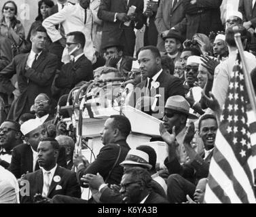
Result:
<instances>
[{"instance_id":1,"label":"pole of the American flag at right edge","mask_svg":"<svg viewBox=\"0 0 256 217\"><path fill-rule=\"evenodd\" d=\"M236 32L236 26L233 28L233 30ZM242 68L244 72L244 81L246 85L246 89L248 92L249 100L251 102L251 108L253 109L253 113L256 114L256 101L255 101L255 92L253 89L253 82L251 81L251 75L250 72L247 69L245 58L244 58L244 48L241 41L241 34L236 33L234 35L236 46L238 47L238 52L240 54L241 62L242 62Z\"/></svg>"}]
</instances>

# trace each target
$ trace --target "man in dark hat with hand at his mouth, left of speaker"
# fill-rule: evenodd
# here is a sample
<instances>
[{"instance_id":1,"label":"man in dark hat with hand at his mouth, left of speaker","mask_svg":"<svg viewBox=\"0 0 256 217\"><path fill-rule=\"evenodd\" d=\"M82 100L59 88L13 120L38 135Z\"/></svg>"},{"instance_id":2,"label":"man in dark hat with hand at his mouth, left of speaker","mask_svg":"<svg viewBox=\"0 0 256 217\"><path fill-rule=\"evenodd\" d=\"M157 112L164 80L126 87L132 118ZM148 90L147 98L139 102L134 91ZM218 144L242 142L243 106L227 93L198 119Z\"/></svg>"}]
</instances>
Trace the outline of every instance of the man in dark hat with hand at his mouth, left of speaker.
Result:
<instances>
[{"instance_id":1,"label":"man in dark hat with hand at his mouth, left of speaker","mask_svg":"<svg viewBox=\"0 0 256 217\"><path fill-rule=\"evenodd\" d=\"M133 58L124 55L124 46L110 39L103 50L105 50L105 66L117 68L123 77L127 77L132 68Z\"/></svg>"}]
</instances>

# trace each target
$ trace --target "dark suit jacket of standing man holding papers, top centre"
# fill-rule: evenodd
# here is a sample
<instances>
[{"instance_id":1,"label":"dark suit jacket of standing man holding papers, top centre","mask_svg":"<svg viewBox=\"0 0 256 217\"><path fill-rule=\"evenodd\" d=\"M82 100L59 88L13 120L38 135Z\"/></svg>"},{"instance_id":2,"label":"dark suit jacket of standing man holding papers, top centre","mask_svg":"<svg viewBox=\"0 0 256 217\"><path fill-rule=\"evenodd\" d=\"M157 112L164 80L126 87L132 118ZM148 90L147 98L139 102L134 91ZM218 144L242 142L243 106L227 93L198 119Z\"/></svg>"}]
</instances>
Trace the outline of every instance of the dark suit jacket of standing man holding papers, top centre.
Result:
<instances>
[{"instance_id":1,"label":"dark suit jacket of standing man holding papers, top centre","mask_svg":"<svg viewBox=\"0 0 256 217\"><path fill-rule=\"evenodd\" d=\"M127 13L128 9L131 5L136 6L136 26L134 22L130 28L126 28L124 31L120 28L122 22L120 20L115 20L115 13ZM135 34L134 27L137 29L142 28L143 26L143 0L130 0L128 5L126 5L124 0L102 0L100 1L100 6L98 8L98 18L103 20L103 35L102 35L102 47L105 47L109 43L109 39L111 41L120 41L120 37L124 32L126 37L129 37L130 43L127 43L127 46L135 45Z\"/></svg>"}]
</instances>

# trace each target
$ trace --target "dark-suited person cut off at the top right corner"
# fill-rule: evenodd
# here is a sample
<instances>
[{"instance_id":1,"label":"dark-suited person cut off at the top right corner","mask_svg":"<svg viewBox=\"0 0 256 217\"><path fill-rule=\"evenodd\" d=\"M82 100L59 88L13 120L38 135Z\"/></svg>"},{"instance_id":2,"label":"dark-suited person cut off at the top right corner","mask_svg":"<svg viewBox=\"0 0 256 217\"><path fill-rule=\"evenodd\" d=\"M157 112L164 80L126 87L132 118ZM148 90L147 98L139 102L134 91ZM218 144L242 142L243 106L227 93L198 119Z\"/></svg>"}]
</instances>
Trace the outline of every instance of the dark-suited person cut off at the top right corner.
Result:
<instances>
[{"instance_id":1,"label":"dark-suited person cut off at the top right corner","mask_svg":"<svg viewBox=\"0 0 256 217\"><path fill-rule=\"evenodd\" d=\"M252 1L239 1L238 11L242 13L243 26L251 33L251 44L250 50L256 52L256 37L255 37L255 28L256 28L256 7L255 0Z\"/></svg>"}]
</instances>

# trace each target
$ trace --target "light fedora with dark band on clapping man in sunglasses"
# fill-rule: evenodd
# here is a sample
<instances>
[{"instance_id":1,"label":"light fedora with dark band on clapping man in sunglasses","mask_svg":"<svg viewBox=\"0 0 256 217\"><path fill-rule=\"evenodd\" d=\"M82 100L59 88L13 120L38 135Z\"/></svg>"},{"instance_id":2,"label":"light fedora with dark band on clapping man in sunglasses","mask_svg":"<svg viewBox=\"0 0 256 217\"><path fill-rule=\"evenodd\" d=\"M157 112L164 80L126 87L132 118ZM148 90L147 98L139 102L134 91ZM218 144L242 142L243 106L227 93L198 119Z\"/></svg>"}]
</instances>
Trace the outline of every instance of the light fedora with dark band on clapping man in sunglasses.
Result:
<instances>
[{"instance_id":1,"label":"light fedora with dark band on clapping man in sunglasses","mask_svg":"<svg viewBox=\"0 0 256 217\"><path fill-rule=\"evenodd\" d=\"M166 101L164 108L188 115L189 119L198 119L196 115L189 113L189 103L183 96L170 96Z\"/></svg>"}]
</instances>

